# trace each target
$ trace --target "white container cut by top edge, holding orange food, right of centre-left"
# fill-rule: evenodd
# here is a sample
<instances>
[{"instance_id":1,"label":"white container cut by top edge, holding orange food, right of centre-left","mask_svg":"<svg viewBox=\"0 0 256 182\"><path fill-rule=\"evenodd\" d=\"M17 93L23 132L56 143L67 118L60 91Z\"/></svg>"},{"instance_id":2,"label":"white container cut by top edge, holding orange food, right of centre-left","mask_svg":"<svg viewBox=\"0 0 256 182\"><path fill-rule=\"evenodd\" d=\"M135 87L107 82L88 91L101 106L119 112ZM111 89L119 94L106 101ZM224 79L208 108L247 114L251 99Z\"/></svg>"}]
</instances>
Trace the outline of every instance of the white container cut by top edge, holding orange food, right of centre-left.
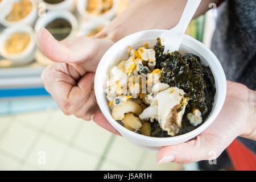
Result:
<instances>
[{"instance_id":1,"label":"white container cut by top edge, holding orange food, right of centre-left","mask_svg":"<svg viewBox=\"0 0 256 182\"><path fill-rule=\"evenodd\" d=\"M118 7L118 1L117 0L113 0L113 6L111 7L111 9L101 15L93 15L93 14L89 14L86 11L86 7L87 7L87 0L77 0L77 4L76 4L77 10L79 11L79 14L82 16L82 18L85 19L113 19L115 16L115 12L117 11L117 7Z\"/></svg>"}]
</instances>

